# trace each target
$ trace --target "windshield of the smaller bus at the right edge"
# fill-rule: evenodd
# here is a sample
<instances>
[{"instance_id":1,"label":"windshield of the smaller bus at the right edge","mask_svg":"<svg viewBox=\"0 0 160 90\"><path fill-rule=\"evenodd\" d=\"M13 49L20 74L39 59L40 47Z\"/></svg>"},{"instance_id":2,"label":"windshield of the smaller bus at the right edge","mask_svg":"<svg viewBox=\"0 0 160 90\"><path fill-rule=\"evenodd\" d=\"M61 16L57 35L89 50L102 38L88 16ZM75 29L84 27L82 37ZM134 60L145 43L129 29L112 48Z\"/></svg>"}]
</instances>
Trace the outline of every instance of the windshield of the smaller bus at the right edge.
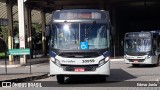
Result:
<instances>
[{"instance_id":1,"label":"windshield of the smaller bus at the right edge","mask_svg":"<svg viewBox=\"0 0 160 90\"><path fill-rule=\"evenodd\" d=\"M151 50L151 39L125 39L124 51L125 52L148 52Z\"/></svg>"}]
</instances>

